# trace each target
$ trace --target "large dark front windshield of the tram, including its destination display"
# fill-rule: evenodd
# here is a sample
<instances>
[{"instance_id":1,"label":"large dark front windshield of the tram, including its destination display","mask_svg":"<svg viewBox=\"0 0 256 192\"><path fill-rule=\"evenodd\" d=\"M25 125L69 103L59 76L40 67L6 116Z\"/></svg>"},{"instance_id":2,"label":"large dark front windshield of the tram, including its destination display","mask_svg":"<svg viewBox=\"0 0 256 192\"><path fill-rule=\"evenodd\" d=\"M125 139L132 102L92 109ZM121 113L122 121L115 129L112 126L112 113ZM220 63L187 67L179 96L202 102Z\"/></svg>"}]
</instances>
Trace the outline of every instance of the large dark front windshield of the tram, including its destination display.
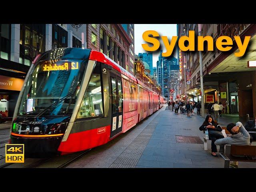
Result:
<instances>
[{"instance_id":1,"label":"large dark front windshield of the tram, including its destination display","mask_svg":"<svg viewBox=\"0 0 256 192\"><path fill-rule=\"evenodd\" d=\"M70 115L88 60L44 61L34 69L24 89L19 115Z\"/></svg>"}]
</instances>

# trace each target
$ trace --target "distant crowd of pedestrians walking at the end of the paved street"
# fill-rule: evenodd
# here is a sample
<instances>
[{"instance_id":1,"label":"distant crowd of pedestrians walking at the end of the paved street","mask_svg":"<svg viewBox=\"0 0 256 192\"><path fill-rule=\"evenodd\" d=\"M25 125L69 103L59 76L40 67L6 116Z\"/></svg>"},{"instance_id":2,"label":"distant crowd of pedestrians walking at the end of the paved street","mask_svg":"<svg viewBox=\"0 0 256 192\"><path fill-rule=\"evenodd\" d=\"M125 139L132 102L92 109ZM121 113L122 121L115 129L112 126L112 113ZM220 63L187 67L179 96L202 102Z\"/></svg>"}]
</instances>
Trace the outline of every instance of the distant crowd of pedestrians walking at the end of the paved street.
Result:
<instances>
[{"instance_id":1,"label":"distant crowd of pedestrians walking at the end of the paved street","mask_svg":"<svg viewBox=\"0 0 256 192\"><path fill-rule=\"evenodd\" d=\"M169 101L168 102L169 109L173 111L175 110L175 114L178 114L178 110L180 109L181 114L187 114L187 116L192 115L193 112L197 115L200 115L201 103L200 102L187 102L184 101Z\"/></svg>"}]
</instances>

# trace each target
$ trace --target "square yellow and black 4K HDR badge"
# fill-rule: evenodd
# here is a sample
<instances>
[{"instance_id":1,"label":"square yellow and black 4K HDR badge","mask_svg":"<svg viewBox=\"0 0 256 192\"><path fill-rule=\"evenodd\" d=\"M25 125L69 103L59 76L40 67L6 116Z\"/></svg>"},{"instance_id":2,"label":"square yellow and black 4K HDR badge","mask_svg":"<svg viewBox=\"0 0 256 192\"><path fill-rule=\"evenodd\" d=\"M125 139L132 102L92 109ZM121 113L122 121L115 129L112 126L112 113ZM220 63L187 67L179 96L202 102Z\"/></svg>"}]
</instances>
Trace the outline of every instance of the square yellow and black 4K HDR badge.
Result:
<instances>
[{"instance_id":1,"label":"square yellow and black 4K HDR badge","mask_svg":"<svg viewBox=\"0 0 256 192\"><path fill-rule=\"evenodd\" d=\"M24 163L24 144L6 144L5 162Z\"/></svg>"}]
</instances>

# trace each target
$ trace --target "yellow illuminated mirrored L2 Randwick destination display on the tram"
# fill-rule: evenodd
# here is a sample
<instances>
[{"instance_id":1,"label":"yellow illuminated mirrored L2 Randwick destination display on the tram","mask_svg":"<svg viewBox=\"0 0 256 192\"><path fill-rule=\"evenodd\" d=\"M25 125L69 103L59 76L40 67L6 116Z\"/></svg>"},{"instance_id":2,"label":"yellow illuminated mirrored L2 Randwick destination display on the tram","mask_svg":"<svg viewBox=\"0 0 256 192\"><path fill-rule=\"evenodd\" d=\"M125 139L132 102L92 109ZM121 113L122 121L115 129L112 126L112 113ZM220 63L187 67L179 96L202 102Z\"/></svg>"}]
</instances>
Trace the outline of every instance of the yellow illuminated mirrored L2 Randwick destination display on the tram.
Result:
<instances>
[{"instance_id":1,"label":"yellow illuminated mirrored L2 Randwick destination display on the tram","mask_svg":"<svg viewBox=\"0 0 256 192\"><path fill-rule=\"evenodd\" d=\"M60 71L78 69L78 62L65 62L64 64L45 64L42 66L43 71Z\"/></svg>"}]
</instances>

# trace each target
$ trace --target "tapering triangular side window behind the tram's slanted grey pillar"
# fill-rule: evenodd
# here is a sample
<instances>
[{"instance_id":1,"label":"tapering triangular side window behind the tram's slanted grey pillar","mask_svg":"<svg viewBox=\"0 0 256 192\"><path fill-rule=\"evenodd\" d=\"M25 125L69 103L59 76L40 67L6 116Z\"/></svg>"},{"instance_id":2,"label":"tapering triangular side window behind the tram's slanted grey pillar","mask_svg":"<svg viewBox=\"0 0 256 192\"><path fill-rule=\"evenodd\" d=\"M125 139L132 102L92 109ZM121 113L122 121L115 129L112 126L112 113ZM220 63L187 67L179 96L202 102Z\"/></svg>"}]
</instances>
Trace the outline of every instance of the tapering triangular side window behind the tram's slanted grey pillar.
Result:
<instances>
[{"instance_id":1,"label":"tapering triangular side window behind the tram's slanted grey pillar","mask_svg":"<svg viewBox=\"0 0 256 192\"><path fill-rule=\"evenodd\" d=\"M84 94L77 118L103 116L100 63L97 63Z\"/></svg>"}]
</instances>

